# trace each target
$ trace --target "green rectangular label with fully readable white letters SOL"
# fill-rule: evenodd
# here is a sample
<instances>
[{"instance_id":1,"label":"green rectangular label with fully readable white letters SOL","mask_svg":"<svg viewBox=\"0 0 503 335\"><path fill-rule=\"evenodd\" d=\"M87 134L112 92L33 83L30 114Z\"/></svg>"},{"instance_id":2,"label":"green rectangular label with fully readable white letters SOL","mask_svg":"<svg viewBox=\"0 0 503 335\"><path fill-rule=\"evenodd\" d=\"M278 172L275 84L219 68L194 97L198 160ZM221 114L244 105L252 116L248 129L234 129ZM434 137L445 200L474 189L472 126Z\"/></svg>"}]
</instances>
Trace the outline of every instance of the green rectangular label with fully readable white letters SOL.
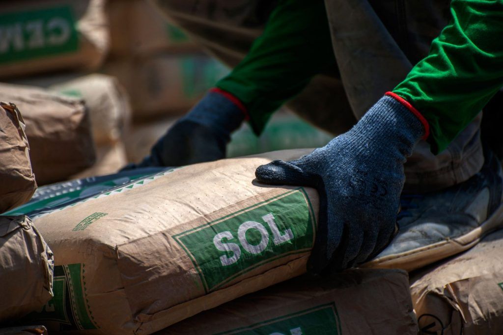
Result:
<instances>
[{"instance_id":1,"label":"green rectangular label with fully readable white letters SOL","mask_svg":"<svg viewBox=\"0 0 503 335\"><path fill-rule=\"evenodd\" d=\"M315 222L303 188L174 235L199 272L206 292L313 245Z\"/></svg>"}]
</instances>

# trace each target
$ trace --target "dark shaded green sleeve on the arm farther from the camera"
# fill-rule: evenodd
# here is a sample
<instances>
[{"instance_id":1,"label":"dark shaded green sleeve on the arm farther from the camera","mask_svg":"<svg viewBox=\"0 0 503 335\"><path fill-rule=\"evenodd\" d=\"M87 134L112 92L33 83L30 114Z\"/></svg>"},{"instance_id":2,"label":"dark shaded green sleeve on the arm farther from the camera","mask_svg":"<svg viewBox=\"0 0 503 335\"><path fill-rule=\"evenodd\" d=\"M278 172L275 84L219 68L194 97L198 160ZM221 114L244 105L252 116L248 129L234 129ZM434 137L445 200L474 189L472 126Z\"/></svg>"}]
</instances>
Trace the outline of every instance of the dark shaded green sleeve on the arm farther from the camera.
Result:
<instances>
[{"instance_id":1,"label":"dark shaded green sleeve on the arm farther from the camera","mask_svg":"<svg viewBox=\"0 0 503 335\"><path fill-rule=\"evenodd\" d=\"M246 57L216 87L243 103L259 135L274 111L334 64L323 0L283 0Z\"/></svg>"}]
</instances>

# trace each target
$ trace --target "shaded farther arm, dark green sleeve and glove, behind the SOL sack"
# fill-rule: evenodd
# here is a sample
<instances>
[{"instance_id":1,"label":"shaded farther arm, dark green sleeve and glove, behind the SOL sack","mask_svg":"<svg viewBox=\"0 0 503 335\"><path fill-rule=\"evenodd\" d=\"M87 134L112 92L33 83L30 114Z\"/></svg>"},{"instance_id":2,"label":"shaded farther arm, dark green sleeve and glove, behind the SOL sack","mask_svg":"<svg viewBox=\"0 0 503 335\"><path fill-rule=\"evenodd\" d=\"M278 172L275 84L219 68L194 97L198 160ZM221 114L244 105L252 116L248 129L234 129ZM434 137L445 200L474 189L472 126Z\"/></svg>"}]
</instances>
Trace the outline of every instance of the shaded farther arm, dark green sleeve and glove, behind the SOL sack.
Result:
<instances>
[{"instance_id":1,"label":"shaded farther arm, dark green sleeve and glove, behind the SOL sack","mask_svg":"<svg viewBox=\"0 0 503 335\"><path fill-rule=\"evenodd\" d=\"M336 64L323 0L279 0L246 57L177 121L139 166L179 166L225 157L245 118L256 134L315 74Z\"/></svg>"}]
</instances>

